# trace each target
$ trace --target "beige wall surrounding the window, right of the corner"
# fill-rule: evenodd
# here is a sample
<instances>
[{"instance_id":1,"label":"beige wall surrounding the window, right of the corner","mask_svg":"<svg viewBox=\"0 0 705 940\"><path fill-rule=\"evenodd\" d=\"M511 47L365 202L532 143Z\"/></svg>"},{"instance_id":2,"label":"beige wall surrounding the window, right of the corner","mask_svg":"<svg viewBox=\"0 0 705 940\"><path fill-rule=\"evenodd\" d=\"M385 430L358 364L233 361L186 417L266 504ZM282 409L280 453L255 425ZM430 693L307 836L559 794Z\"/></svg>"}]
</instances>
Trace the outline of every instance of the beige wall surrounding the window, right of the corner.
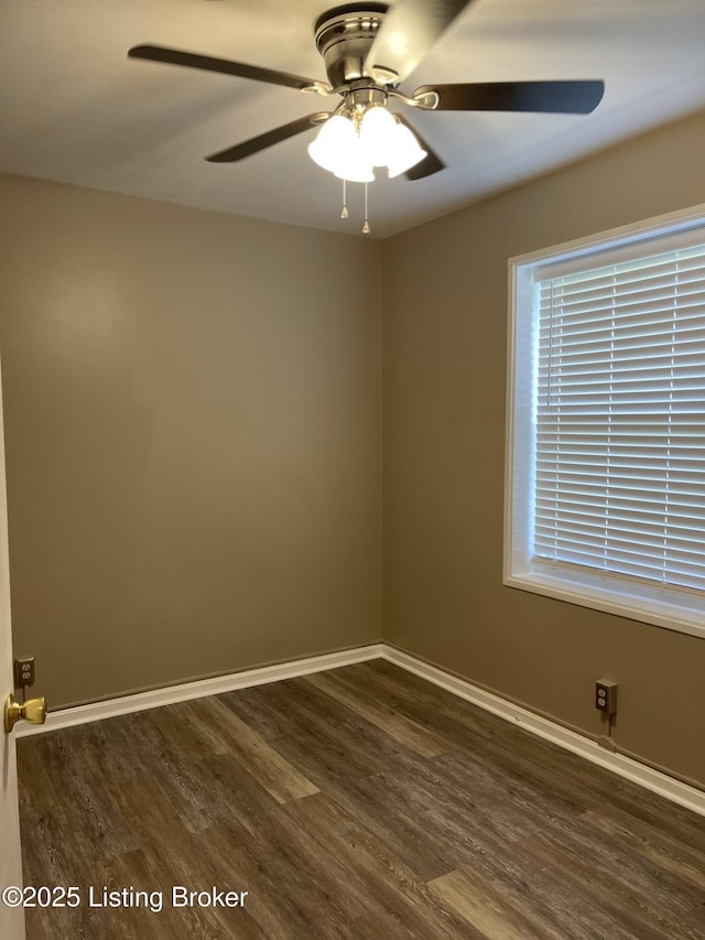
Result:
<instances>
[{"instance_id":1,"label":"beige wall surrounding the window, right of the corner","mask_svg":"<svg viewBox=\"0 0 705 940\"><path fill-rule=\"evenodd\" d=\"M705 782L705 640L502 587L507 259L705 202L705 116L384 246L384 634Z\"/></svg>"}]
</instances>

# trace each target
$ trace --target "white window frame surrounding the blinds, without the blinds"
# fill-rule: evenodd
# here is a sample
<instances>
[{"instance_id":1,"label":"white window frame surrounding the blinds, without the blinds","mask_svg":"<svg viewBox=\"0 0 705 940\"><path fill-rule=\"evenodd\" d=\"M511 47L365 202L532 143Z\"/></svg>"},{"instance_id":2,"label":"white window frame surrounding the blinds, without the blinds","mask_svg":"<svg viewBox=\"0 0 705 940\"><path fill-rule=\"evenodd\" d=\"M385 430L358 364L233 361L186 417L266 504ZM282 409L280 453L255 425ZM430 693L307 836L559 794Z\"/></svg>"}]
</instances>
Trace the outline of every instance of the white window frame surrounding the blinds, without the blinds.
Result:
<instances>
[{"instance_id":1,"label":"white window frame surrounding the blinds, without the blinds","mask_svg":"<svg viewBox=\"0 0 705 940\"><path fill-rule=\"evenodd\" d=\"M698 228L702 228L705 241L705 204L509 259L502 583L508 587L705 638L705 597L699 592L682 592L676 587L573 570L560 562L534 562L529 555L534 485L532 471L535 464L534 273L572 260L579 263L579 259L592 255L638 251L641 244L649 246L643 252L646 257L653 253L653 239Z\"/></svg>"}]
</instances>

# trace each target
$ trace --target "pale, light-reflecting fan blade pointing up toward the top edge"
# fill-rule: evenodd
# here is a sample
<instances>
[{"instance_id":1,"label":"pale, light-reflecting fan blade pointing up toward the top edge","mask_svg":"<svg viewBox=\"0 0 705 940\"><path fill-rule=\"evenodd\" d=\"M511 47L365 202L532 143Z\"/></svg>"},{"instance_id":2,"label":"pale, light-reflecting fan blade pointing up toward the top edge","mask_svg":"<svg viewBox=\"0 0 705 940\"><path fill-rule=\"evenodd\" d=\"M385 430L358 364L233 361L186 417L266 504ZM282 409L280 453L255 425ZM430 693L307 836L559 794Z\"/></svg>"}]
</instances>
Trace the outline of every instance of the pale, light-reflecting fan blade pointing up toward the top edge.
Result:
<instances>
[{"instance_id":1,"label":"pale, light-reflecting fan blade pointing up toward the top edge","mask_svg":"<svg viewBox=\"0 0 705 940\"><path fill-rule=\"evenodd\" d=\"M399 0L387 13L365 60L378 82L403 82L470 0Z\"/></svg>"}]
</instances>

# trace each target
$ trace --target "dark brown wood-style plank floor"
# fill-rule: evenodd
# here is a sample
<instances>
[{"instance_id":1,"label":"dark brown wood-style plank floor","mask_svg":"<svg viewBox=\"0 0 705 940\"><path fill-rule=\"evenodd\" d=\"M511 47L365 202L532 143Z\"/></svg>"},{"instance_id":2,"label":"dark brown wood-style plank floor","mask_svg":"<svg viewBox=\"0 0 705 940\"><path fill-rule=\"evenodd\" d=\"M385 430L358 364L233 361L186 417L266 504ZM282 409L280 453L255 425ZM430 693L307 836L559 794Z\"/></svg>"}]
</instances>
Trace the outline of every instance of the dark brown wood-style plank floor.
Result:
<instances>
[{"instance_id":1,"label":"dark brown wood-style plank floor","mask_svg":"<svg viewBox=\"0 0 705 940\"><path fill-rule=\"evenodd\" d=\"M25 883L83 890L29 910L29 940L705 938L705 818L382 660L19 760ZM180 909L172 885L248 895ZM164 908L90 908L89 886Z\"/></svg>"}]
</instances>

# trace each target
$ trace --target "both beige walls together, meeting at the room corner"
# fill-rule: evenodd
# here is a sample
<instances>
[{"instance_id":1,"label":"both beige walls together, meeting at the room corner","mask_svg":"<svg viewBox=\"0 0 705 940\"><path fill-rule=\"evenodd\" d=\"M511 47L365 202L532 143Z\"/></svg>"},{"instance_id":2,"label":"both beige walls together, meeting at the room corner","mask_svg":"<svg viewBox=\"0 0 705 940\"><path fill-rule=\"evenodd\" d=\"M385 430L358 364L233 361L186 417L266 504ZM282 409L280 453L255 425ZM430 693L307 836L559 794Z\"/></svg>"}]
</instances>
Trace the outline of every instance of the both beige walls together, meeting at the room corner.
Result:
<instances>
[{"instance_id":1,"label":"both beige walls together, meeting at the room corner","mask_svg":"<svg viewBox=\"0 0 705 940\"><path fill-rule=\"evenodd\" d=\"M705 782L703 640L501 585L507 259L705 202L704 150L701 116L383 246L0 177L37 691L380 638L383 302L386 638L588 734L614 678L619 745Z\"/></svg>"}]
</instances>

